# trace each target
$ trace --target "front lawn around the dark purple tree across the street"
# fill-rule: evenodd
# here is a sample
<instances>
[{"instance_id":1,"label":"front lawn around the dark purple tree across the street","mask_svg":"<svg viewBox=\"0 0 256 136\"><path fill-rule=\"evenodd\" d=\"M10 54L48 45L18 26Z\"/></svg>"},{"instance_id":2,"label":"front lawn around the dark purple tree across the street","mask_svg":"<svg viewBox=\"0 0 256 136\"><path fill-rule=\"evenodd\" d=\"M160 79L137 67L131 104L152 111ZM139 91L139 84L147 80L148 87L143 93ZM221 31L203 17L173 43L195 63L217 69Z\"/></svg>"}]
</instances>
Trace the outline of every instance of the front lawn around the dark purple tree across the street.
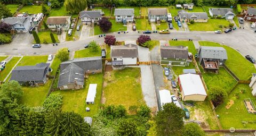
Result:
<instances>
[{"instance_id":1,"label":"front lawn around the dark purple tree across the street","mask_svg":"<svg viewBox=\"0 0 256 136\"><path fill-rule=\"evenodd\" d=\"M109 21L112 23L112 28L108 32L106 32L106 33L116 32L116 31L126 31L127 30L127 27L124 26L123 23L116 23L116 20L114 20L114 19L110 19ZM100 35L102 33L103 32L100 30L99 25L95 25L95 27L94 27L94 35Z\"/></svg>"}]
</instances>

